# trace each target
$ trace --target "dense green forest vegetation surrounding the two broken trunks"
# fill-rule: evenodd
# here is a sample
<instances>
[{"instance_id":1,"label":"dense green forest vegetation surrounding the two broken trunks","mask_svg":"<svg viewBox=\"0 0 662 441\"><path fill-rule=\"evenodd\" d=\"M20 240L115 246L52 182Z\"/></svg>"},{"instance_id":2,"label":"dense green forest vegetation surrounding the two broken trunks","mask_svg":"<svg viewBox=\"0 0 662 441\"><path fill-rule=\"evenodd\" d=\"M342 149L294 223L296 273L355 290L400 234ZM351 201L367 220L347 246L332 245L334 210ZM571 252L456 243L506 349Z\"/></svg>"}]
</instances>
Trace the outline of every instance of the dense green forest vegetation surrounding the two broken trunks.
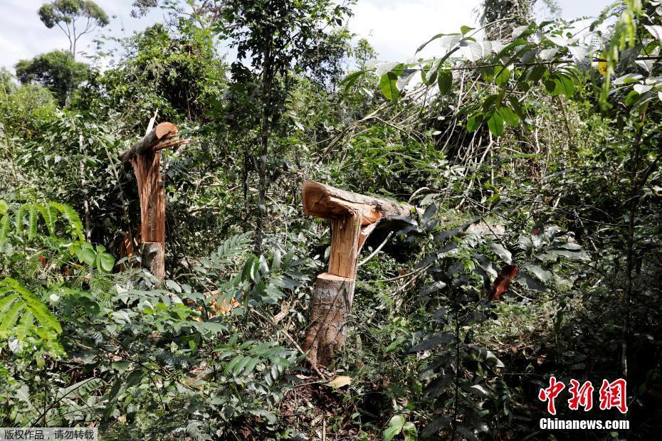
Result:
<instances>
[{"instance_id":1,"label":"dense green forest vegetation surrounding the two broken trunks","mask_svg":"<svg viewBox=\"0 0 662 441\"><path fill-rule=\"evenodd\" d=\"M430 36L436 58L376 64L352 2L137 0L169 20L116 39L104 69L76 37L105 12L43 6L70 48L0 72L0 425L658 438L662 6L617 1L579 28L536 23L534 3L485 0L481 28ZM162 152L162 285L133 251L119 159L150 119L191 140ZM300 342L330 228L304 216L306 180L419 208L371 236L345 349L315 369ZM630 430L541 430L550 376L625 378L626 415L569 410L565 390L556 417Z\"/></svg>"}]
</instances>

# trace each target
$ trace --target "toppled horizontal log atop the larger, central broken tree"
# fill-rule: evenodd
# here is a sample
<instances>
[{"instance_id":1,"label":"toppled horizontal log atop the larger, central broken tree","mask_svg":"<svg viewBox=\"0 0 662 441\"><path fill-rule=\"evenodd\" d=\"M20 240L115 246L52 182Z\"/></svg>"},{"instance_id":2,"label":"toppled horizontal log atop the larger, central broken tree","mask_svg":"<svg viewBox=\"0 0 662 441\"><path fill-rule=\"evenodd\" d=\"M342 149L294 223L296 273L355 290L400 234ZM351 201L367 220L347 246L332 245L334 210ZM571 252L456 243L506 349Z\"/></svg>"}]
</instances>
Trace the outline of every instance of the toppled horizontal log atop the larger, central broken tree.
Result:
<instances>
[{"instance_id":1,"label":"toppled horizontal log atop the larger, central broken tree","mask_svg":"<svg viewBox=\"0 0 662 441\"><path fill-rule=\"evenodd\" d=\"M317 181L306 181L301 190L303 212L318 218L335 219L361 215L361 225L389 216L409 216L411 206L341 190Z\"/></svg>"}]
</instances>

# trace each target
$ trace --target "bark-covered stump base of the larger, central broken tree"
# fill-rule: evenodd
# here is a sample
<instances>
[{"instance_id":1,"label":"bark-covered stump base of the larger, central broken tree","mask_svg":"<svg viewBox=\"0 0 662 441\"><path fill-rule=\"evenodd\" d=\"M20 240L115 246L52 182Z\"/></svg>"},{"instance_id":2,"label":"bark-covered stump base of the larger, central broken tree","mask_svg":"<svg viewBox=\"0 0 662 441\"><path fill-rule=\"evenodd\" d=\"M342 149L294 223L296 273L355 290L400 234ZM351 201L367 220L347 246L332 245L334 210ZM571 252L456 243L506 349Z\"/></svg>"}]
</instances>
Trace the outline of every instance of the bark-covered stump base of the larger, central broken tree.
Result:
<instances>
[{"instance_id":1,"label":"bark-covered stump base of the larger, central broken tree","mask_svg":"<svg viewBox=\"0 0 662 441\"><path fill-rule=\"evenodd\" d=\"M325 272L315 280L310 304L310 326L303 347L308 359L329 366L345 345L346 325L352 309L354 279Z\"/></svg>"}]
</instances>

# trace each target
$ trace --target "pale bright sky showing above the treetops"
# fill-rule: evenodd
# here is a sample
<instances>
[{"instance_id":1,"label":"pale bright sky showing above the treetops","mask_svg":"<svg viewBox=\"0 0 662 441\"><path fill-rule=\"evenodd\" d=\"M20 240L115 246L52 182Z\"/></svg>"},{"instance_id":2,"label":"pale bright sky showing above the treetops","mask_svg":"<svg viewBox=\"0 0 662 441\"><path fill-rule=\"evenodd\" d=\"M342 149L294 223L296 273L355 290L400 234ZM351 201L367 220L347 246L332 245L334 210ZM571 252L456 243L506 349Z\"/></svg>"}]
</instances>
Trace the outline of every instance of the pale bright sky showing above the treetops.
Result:
<instances>
[{"instance_id":1,"label":"pale bright sky showing above the treetops","mask_svg":"<svg viewBox=\"0 0 662 441\"><path fill-rule=\"evenodd\" d=\"M134 31L162 21L154 11L141 19L130 16L132 0L96 0L112 18L100 30L112 36L130 36ZM608 0L558 0L564 18L598 14ZM12 67L22 58L68 48L67 38L58 28L48 29L36 14L43 0L0 0L0 66ZM350 31L367 38L380 60L406 60L429 37L456 32L476 21L480 0L359 0L354 6ZM79 48L95 51L93 36L83 38Z\"/></svg>"}]
</instances>

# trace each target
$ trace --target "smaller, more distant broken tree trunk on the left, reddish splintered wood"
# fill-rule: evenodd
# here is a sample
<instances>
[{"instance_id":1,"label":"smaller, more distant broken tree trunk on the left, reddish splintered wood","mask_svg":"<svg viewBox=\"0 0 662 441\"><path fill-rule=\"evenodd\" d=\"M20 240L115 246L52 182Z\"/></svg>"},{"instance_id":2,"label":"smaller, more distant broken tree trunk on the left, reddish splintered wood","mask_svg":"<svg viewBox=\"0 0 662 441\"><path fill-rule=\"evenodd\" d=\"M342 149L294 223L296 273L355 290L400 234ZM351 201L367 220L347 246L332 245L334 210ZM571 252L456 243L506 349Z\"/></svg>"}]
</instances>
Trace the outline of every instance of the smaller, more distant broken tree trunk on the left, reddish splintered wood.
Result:
<instances>
[{"instance_id":1,"label":"smaller, more distant broken tree trunk on the left, reddish splintered wood","mask_svg":"<svg viewBox=\"0 0 662 441\"><path fill-rule=\"evenodd\" d=\"M160 151L189 142L178 137L177 126L163 122L120 154L122 161L131 162L138 184L142 267L161 281L165 279L165 190L161 181Z\"/></svg>"}]
</instances>

